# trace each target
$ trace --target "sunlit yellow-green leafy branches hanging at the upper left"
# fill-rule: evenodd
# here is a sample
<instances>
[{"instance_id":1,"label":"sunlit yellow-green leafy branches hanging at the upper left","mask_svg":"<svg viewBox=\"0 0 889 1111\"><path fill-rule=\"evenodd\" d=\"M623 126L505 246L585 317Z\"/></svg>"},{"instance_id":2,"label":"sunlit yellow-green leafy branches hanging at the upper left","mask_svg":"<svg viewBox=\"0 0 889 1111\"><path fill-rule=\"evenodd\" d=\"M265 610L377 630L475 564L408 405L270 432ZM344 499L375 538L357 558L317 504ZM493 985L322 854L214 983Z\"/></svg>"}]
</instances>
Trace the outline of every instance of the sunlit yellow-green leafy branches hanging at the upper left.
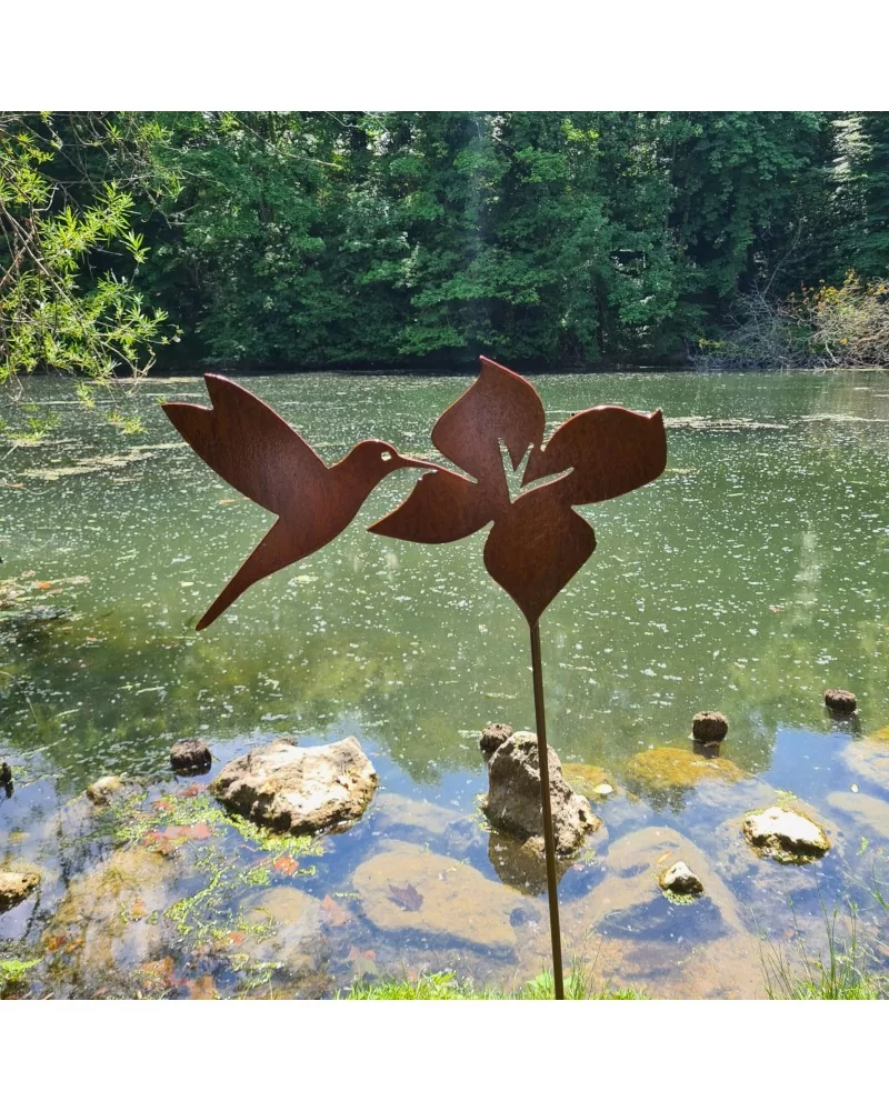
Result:
<instances>
[{"instance_id":1,"label":"sunlit yellow-green leafy branches hanging at the upper left","mask_svg":"<svg viewBox=\"0 0 889 1111\"><path fill-rule=\"evenodd\" d=\"M36 370L108 382L123 368L139 378L154 347L177 337L163 327L167 313L147 309L114 270L148 258L132 228L134 198L118 181L96 183L86 172L74 182L53 178L64 143L51 116L41 124L0 116L0 384ZM109 124L103 141L123 140ZM137 179L133 170L129 183ZM113 263L97 270L100 259Z\"/></svg>"}]
</instances>

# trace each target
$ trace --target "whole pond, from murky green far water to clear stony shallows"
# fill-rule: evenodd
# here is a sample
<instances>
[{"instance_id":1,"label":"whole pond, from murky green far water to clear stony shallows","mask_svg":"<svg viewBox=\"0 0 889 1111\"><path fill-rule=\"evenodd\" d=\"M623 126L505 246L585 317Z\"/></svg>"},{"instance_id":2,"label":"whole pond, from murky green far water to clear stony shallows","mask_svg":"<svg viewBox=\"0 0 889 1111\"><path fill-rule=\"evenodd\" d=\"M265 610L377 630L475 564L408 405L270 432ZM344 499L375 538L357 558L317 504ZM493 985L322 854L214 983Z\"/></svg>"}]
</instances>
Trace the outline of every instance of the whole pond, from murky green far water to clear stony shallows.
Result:
<instances>
[{"instance_id":1,"label":"whole pond, from murky green far water to clear stony shallows","mask_svg":"<svg viewBox=\"0 0 889 1111\"><path fill-rule=\"evenodd\" d=\"M331 462L364 437L430 451L469 380L244 384ZM823 949L838 907L838 934L889 964L875 895L889 891L889 373L532 380L551 427L607 402L662 408L668 424L665 476L582 510L598 549L541 622L550 743L615 788L561 878L567 953L649 995L761 997L763 965ZM44 995L537 975L542 870L478 810L481 729L533 729L527 627L483 573L485 536L436 548L368 533L413 482L398 472L321 553L196 633L271 521L159 408L204 401L201 379L149 379L126 402L129 430L63 383L34 380L28 397L56 423L4 449L0 472L0 759L16 778L0 870L24 862L41 883L0 914L0 959L36 961L30 991ZM828 687L856 692L853 719L826 714ZM640 774L640 753L690 750L692 714L709 709L730 721L730 774ZM211 800L223 761L283 734L358 739L380 788L353 828L279 842ZM170 744L193 735L213 770L177 779ZM137 789L96 808L82 792L104 774ZM827 829L822 859L763 860L741 838L746 811L788 800ZM651 880L670 852L707 873L693 903ZM455 869L459 898L403 929L380 908L399 869Z\"/></svg>"}]
</instances>

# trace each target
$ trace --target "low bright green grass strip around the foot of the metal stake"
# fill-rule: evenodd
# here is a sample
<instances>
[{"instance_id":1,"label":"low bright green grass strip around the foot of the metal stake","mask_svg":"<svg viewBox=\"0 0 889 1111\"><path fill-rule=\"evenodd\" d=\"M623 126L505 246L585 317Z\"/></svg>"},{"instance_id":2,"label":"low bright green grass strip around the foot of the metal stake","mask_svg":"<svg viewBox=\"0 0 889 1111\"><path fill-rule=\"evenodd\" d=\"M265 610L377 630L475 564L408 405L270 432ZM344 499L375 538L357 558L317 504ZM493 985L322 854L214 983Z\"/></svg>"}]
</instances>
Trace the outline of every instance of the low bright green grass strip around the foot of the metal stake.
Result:
<instances>
[{"instance_id":1,"label":"low bright green grass strip around the foot of the metal stake","mask_svg":"<svg viewBox=\"0 0 889 1111\"><path fill-rule=\"evenodd\" d=\"M571 964L571 970L565 980L566 999L645 999L646 997L632 988L596 988L588 978L586 965L580 961ZM488 984L476 984L470 979L460 980L455 972L421 972L416 980L392 978L378 980L374 983L353 983L346 995L338 999L552 999L553 982L551 972L542 972L536 980L512 991L492 988Z\"/></svg>"}]
</instances>

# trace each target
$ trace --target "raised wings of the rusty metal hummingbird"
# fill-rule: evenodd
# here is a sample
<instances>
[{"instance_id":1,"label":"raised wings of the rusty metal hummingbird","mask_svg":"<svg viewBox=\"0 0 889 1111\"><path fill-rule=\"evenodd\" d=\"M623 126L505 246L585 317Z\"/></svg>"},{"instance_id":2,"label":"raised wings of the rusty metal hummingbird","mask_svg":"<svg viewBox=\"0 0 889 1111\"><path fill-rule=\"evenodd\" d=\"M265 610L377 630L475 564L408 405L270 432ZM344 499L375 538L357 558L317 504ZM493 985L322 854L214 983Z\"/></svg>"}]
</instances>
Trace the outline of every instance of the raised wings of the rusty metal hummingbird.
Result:
<instances>
[{"instance_id":1,"label":"raised wings of the rusty metal hummingbird","mask_svg":"<svg viewBox=\"0 0 889 1111\"><path fill-rule=\"evenodd\" d=\"M286 513L327 467L263 401L221 374L204 374L212 408L170 401L163 411L229 486L272 513Z\"/></svg>"}]
</instances>

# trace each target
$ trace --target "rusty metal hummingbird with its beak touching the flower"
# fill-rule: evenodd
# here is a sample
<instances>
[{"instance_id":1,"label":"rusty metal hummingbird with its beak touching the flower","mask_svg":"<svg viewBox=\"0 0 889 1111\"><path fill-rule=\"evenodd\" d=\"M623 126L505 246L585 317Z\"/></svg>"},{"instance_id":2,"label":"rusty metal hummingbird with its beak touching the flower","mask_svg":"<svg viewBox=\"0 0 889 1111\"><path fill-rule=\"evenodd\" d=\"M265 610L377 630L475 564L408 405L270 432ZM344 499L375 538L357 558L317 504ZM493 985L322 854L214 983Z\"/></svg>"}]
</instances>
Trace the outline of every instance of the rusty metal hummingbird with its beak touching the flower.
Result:
<instances>
[{"instance_id":1,"label":"rusty metal hummingbird with its beak touching the flower","mask_svg":"<svg viewBox=\"0 0 889 1111\"><path fill-rule=\"evenodd\" d=\"M384 440L362 440L328 467L256 394L221 374L204 374L203 380L212 408L170 401L163 411L220 478L278 520L200 619L199 630L254 582L330 543L387 474L430 467L399 454Z\"/></svg>"}]
</instances>

